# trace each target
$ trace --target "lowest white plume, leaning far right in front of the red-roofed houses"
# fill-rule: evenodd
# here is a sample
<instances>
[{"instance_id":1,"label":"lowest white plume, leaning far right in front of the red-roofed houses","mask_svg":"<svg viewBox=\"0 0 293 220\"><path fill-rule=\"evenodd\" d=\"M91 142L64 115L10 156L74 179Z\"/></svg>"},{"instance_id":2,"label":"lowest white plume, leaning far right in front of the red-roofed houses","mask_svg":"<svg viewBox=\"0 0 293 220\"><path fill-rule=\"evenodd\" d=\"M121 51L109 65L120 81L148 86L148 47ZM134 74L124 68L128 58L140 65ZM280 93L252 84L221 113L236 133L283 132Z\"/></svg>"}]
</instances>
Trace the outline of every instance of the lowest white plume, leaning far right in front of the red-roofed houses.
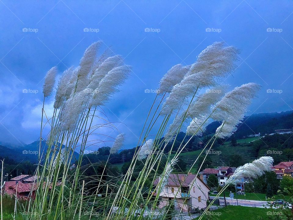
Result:
<instances>
[{"instance_id":1,"label":"lowest white plume, leaning far right in front of the red-roofed houses","mask_svg":"<svg viewBox=\"0 0 293 220\"><path fill-rule=\"evenodd\" d=\"M246 163L235 170L226 184L240 181L242 178L256 178L261 176L265 171L270 170L270 167L273 166L272 163L273 158L269 156L261 157L252 163Z\"/></svg>"}]
</instances>

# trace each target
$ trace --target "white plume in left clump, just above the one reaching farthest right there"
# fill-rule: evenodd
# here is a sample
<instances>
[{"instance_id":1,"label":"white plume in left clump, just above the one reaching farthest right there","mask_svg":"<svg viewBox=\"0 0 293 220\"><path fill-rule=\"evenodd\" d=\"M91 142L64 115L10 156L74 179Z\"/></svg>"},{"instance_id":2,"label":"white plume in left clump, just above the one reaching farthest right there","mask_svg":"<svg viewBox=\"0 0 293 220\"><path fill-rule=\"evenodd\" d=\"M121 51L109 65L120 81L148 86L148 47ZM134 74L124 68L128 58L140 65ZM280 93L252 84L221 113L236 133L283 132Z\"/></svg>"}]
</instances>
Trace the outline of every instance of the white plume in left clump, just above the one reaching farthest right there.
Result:
<instances>
[{"instance_id":1,"label":"white plume in left clump, just above the one reaching farthest right there","mask_svg":"<svg viewBox=\"0 0 293 220\"><path fill-rule=\"evenodd\" d=\"M91 82L89 83L89 88L96 89L99 86L99 82L105 77L105 75L115 67L118 67L122 63L123 58L121 55L116 55L113 57L108 57L102 64L96 68L94 74L92 75Z\"/></svg>"}]
</instances>

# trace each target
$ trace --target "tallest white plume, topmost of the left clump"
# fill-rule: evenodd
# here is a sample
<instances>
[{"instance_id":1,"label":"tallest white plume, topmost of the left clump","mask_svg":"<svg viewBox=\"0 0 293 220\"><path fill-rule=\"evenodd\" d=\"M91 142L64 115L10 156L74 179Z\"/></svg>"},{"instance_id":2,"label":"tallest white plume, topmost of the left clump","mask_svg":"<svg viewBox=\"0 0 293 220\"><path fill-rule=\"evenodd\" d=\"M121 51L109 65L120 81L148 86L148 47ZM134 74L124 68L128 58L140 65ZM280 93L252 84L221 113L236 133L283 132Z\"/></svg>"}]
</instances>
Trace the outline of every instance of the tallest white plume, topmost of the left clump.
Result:
<instances>
[{"instance_id":1,"label":"tallest white plume, topmost of the left clump","mask_svg":"<svg viewBox=\"0 0 293 220\"><path fill-rule=\"evenodd\" d=\"M96 60L96 55L101 44L101 41L94 42L85 50L76 72L76 92L85 89L89 84L89 75L92 71L92 66Z\"/></svg>"}]
</instances>

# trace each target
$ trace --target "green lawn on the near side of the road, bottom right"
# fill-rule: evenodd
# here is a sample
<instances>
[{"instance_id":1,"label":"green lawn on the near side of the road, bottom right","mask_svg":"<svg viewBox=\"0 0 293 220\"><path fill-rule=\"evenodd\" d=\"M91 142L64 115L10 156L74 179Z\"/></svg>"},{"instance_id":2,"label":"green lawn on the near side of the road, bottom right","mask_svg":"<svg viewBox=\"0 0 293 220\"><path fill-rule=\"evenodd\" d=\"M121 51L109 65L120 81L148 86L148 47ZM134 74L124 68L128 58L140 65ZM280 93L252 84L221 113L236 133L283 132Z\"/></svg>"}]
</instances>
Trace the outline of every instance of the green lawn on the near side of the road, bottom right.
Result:
<instances>
[{"instance_id":1,"label":"green lawn on the near side of the road, bottom right","mask_svg":"<svg viewBox=\"0 0 293 220\"><path fill-rule=\"evenodd\" d=\"M269 219L267 215L267 209L255 208L255 207L244 207L244 206L227 206L225 208L210 211L207 219L217 219L217 220L243 220L243 219ZM197 218L196 218L197 219Z\"/></svg>"}]
</instances>

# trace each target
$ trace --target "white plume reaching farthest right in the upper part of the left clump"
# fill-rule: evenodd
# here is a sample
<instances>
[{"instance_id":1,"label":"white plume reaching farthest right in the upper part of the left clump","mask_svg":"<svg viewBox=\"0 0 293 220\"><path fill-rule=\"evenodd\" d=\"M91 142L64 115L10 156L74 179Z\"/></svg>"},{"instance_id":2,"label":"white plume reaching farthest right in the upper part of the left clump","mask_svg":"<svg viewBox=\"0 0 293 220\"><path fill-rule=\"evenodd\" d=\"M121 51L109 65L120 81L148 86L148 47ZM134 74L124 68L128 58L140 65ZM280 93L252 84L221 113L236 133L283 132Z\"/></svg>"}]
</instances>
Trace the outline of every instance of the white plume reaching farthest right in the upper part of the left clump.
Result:
<instances>
[{"instance_id":1,"label":"white plume reaching farthest right in the upper part of the left clump","mask_svg":"<svg viewBox=\"0 0 293 220\"><path fill-rule=\"evenodd\" d=\"M130 71L131 67L128 65L118 66L110 70L93 91L89 108L104 105L110 99L110 96L118 91L117 87L125 82Z\"/></svg>"}]
</instances>

